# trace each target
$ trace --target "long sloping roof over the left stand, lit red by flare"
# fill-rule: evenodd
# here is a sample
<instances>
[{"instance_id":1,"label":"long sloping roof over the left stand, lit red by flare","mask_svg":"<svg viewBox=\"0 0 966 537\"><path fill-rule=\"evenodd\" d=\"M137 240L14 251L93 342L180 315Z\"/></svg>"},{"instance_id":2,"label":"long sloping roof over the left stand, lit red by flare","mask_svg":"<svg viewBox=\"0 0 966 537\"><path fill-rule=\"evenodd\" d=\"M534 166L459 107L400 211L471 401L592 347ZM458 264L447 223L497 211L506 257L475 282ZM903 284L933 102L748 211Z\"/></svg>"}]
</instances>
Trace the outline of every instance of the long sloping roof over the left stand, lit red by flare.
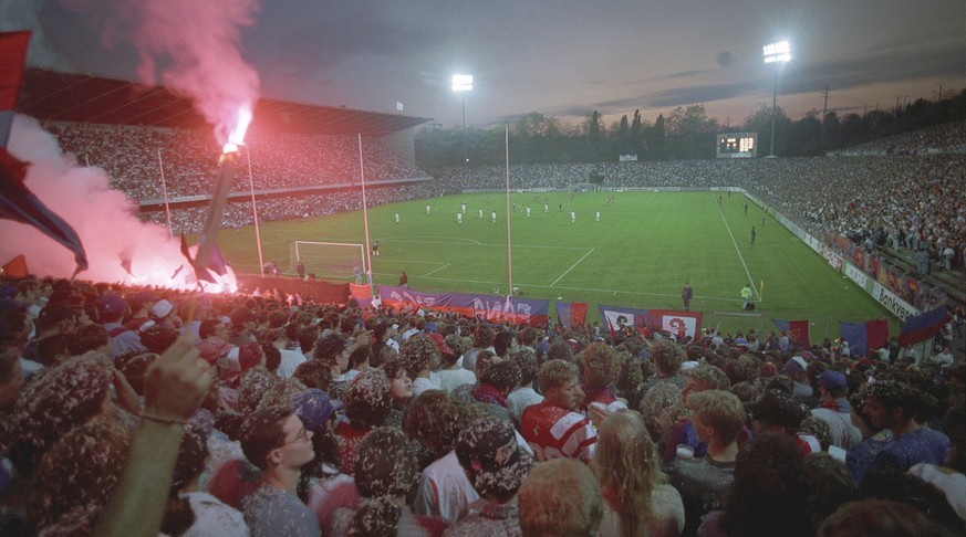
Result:
<instances>
[{"instance_id":1,"label":"long sloping roof over the left stand, lit red by flare","mask_svg":"<svg viewBox=\"0 0 966 537\"><path fill-rule=\"evenodd\" d=\"M189 98L166 87L34 67L23 74L17 112L41 122L209 127ZM258 101L253 116L253 129L319 135L389 134L432 120L268 98Z\"/></svg>"}]
</instances>

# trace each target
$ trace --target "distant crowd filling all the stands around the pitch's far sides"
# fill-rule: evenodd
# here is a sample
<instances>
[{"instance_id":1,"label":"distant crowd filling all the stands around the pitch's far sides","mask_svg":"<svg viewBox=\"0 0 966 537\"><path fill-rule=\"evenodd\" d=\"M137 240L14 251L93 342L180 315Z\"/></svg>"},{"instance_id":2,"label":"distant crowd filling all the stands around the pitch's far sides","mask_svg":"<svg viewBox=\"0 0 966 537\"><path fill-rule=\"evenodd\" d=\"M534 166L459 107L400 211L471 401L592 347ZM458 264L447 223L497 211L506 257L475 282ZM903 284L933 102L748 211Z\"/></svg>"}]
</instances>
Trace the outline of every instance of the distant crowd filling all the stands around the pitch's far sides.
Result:
<instances>
[{"instance_id":1,"label":"distant crowd filling all the stands around the pitch's far sides","mask_svg":"<svg viewBox=\"0 0 966 537\"><path fill-rule=\"evenodd\" d=\"M218 154L209 133L145 127L53 125L65 151L85 165L103 167L112 185L135 200L162 198L160 162L169 198L211 192ZM906 259L925 252L931 270L966 264L966 124L949 124L876 141L860 148L884 156L827 156L794 159L515 165L512 189L567 189L603 177L609 188L741 187L793 219L814 236L848 236L871 253L890 248ZM359 179L359 141L351 136L259 135L248 139L258 190L353 185ZM425 177L377 139L363 140L368 181ZM859 154L863 154L859 151ZM868 152L868 151L866 151ZM843 154L846 155L846 154ZM502 189L501 166L457 167L434 181L370 191L370 203L391 203L440 192ZM233 191L248 190L237 173ZM293 199L295 201L293 201ZM260 218L285 220L360 207L359 189L259 201ZM224 225L251 223L250 203L231 203ZM197 232L199 209L172 212L175 231ZM166 223L163 211L144 218ZM849 254L845 252L845 254ZM848 255L846 255L848 256Z\"/></svg>"}]
</instances>

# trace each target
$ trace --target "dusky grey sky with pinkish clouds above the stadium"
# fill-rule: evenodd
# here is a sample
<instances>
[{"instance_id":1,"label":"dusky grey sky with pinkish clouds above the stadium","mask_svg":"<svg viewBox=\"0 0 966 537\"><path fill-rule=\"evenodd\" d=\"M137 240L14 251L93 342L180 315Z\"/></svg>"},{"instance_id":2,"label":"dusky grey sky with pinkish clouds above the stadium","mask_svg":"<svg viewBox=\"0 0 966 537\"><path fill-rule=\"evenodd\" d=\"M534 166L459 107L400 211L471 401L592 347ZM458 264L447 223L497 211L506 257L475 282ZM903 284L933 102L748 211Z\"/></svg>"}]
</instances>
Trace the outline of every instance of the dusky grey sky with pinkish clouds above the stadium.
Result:
<instances>
[{"instance_id":1,"label":"dusky grey sky with pinkish clouds above the stadium","mask_svg":"<svg viewBox=\"0 0 966 537\"><path fill-rule=\"evenodd\" d=\"M193 6L224 1L163 3L193 19ZM228 1L250 7L240 55L261 96L384 113L399 102L444 127L461 123L454 73L475 77L469 126L594 109L610 124L636 108L653 122L690 104L739 125L771 106L761 49L779 40L792 60L778 105L796 119L822 110L825 86L840 115L966 87L964 0ZM153 3L3 0L0 28L34 30L33 65L137 80L125 10Z\"/></svg>"}]
</instances>

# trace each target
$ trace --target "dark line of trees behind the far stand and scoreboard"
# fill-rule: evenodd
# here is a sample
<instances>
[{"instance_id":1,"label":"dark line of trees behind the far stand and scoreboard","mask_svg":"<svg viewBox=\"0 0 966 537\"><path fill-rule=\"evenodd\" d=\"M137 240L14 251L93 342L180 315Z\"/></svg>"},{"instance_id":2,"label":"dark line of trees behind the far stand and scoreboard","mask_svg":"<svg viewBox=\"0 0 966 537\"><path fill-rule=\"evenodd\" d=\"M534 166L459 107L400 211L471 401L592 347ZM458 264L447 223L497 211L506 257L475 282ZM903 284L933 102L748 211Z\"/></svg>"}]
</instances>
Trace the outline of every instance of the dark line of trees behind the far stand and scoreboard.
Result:
<instances>
[{"instance_id":1,"label":"dark line of trees behind the far stand and scoreboard","mask_svg":"<svg viewBox=\"0 0 966 537\"><path fill-rule=\"evenodd\" d=\"M704 105L678 106L654 122L634 110L612 125L600 112L590 112L579 125L533 112L510 127L510 161L516 164L615 161L620 155L638 160L708 159L715 157L716 135L725 131L758 133L759 151L771 136L771 107L762 105L741 125L723 127L708 117ZM917 130L948 122L966 120L966 90L947 98L918 98L892 110L866 110L822 117L811 110L792 120L780 107L775 115L775 154L782 157L818 156L824 151ZM503 126L427 128L416 135L416 164L427 171L464 162L470 166L505 161Z\"/></svg>"}]
</instances>

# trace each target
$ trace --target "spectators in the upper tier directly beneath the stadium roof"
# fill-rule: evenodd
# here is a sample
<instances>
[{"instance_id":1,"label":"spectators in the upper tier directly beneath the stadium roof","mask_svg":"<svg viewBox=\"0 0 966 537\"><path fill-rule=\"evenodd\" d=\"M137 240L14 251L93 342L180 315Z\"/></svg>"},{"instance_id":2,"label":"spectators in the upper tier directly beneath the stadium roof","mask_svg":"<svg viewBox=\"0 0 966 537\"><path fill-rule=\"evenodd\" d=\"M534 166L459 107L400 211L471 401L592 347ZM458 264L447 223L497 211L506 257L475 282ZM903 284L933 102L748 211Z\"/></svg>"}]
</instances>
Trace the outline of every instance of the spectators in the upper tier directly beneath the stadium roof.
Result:
<instances>
[{"instance_id":1,"label":"spectators in the upper tier directly beneath the stadium roof","mask_svg":"<svg viewBox=\"0 0 966 537\"><path fill-rule=\"evenodd\" d=\"M135 200L163 199L165 187L168 198L207 194L217 177L221 150L209 131L74 124L48 128L65 152L80 164L103 168L112 188ZM236 173L232 190L249 189L249 157L258 190L357 183L359 147L355 136L252 131L239 157L245 172ZM425 176L376 138L364 138L362 148L366 181Z\"/></svg>"}]
</instances>

